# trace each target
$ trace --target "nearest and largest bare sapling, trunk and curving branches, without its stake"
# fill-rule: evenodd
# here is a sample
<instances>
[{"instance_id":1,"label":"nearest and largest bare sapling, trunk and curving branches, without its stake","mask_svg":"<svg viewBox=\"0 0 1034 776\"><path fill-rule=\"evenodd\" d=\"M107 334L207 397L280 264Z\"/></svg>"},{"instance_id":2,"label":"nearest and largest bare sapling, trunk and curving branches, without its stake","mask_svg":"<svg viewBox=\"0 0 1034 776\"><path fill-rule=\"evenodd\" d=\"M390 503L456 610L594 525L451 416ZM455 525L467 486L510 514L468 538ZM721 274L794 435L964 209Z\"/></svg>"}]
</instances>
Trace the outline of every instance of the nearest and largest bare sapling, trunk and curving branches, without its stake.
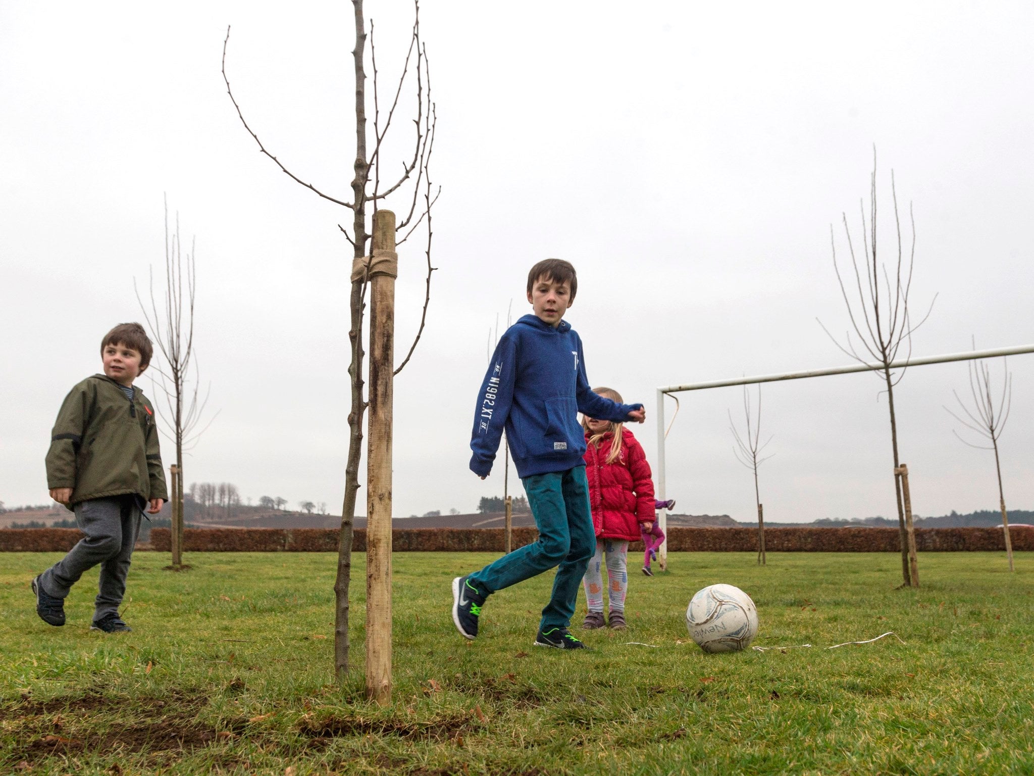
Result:
<instances>
[{"instance_id":1,"label":"nearest and largest bare sapling, trunk and curving branches, without its stake","mask_svg":"<svg viewBox=\"0 0 1034 776\"><path fill-rule=\"evenodd\" d=\"M430 65L427 50L420 32L420 4L414 3L414 23L410 29L408 49L402 61L401 72L394 88L394 96L387 110L382 110L379 92L379 73L376 62L376 51L373 40L373 22L369 22L363 13L363 0L353 0L356 42L353 49L353 73L355 86L355 161L353 162L353 178L351 182L352 196L332 196L324 187L316 188L311 182L303 180L293 173L280 159L269 151L258 136L248 125L240 105L234 97L226 76L226 48L230 41L230 28L226 28L226 38L222 47L222 77L241 123L258 146L258 150L276 165L287 177L296 183L309 189L317 197L352 211L352 227L338 225L345 240L352 246L352 294L349 298L351 324L348 329L351 383L351 412L348 413L348 452L344 473L344 500L341 506L341 532L338 544L337 577L334 584L335 617L334 617L334 665L338 681L344 681L348 669L348 586L352 571L352 538L353 524L356 515L356 498L359 490L359 464L363 450L363 416L367 409L363 379L364 349L364 312L366 309L366 294L369 285L371 256L373 250L368 243L372 236L372 216L377 209L383 208L388 198L392 198L399 217L396 221L396 246L404 243L417 230L425 236L425 259L427 263L427 279L425 285L424 306L420 318L420 326L414 337L405 358L394 369L394 375L408 363L420 341L421 334L427 322L427 308L431 298L431 273L436 269L431 266L431 211L440 193L440 187L431 182L430 162L434 148L434 131L436 113L431 99ZM369 56L367 56L366 40L369 36ZM373 138L372 144L367 137L367 67L373 81ZM412 120L413 137L409 147L401 162L401 170L392 172L383 165L386 142L393 125L397 125L396 110L402 105L403 89L406 90L405 101L414 114ZM393 136L394 137L394 133ZM372 148L371 148L372 145Z\"/></svg>"}]
</instances>

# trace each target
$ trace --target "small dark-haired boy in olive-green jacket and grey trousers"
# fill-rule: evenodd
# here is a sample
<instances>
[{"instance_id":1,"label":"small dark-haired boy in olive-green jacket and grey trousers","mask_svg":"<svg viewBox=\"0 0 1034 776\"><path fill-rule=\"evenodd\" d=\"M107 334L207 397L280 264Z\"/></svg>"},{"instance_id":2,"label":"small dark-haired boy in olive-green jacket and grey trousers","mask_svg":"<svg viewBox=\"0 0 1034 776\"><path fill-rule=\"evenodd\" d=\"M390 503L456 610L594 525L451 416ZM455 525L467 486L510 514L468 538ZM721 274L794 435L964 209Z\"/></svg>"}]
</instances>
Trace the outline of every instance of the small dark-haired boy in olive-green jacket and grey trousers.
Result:
<instances>
[{"instance_id":1,"label":"small dark-haired boy in olive-green jacket and grey trousers","mask_svg":"<svg viewBox=\"0 0 1034 776\"><path fill-rule=\"evenodd\" d=\"M104 374L65 397L51 434L51 498L75 512L86 538L32 580L36 614L64 625L64 599L87 569L100 564L100 591L90 630L132 630L119 618L141 510L157 514L168 498L154 409L132 382L154 349L144 327L119 324L100 342Z\"/></svg>"}]
</instances>

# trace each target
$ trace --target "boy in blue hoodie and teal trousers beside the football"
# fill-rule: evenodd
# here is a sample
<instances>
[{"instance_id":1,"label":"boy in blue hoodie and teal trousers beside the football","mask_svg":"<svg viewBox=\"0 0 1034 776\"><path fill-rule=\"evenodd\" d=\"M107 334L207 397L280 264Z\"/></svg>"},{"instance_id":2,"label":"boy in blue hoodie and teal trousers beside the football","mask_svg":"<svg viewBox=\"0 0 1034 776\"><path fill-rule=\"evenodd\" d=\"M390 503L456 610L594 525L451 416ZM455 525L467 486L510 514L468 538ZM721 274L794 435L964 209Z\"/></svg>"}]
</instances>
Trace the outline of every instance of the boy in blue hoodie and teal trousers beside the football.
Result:
<instances>
[{"instance_id":1,"label":"boy in blue hoodie and teal trousers beside the football","mask_svg":"<svg viewBox=\"0 0 1034 776\"><path fill-rule=\"evenodd\" d=\"M489 595L558 566L535 645L584 648L568 632L596 550L578 413L615 423L642 423L646 414L642 405L620 405L589 389L581 339L562 320L577 290L570 263L547 259L531 267L527 301L535 315L503 335L481 386L470 470L481 479L488 476L505 428L539 540L453 579L453 622L466 638L478 635L478 617Z\"/></svg>"}]
</instances>

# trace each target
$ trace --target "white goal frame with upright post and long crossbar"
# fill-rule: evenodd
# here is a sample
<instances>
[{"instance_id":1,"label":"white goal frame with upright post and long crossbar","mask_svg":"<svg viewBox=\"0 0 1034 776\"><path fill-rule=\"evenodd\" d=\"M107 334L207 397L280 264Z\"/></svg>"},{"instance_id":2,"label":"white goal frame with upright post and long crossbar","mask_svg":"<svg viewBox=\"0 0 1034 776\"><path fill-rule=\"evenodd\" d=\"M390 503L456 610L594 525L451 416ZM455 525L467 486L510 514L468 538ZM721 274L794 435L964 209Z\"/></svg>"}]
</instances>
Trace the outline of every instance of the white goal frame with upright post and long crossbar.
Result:
<instances>
[{"instance_id":1,"label":"white goal frame with upright post and long crossbar","mask_svg":"<svg viewBox=\"0 0 1034 776\"><path fill-rule=\"evenodd\" d=\"M893 369L906 366L923 366L925 364L943 364L949 361L972 361L980 358L998 358L999 356L1017 356L1024 353L1034 353L1034 345L1021 345L1016 348L996 348L990 351L969 351L967 353L950 353L945 356L927 356L925 358L907 358L901 361L893 361L890 367ZM882 369L883 364L851 364L849 366L834 366L827 369L807 369L804 371L786 371L781 375L761 375L754 378L734 378L732 380L710 380L705 383L688 383L687 385L669 385L657 389L657 498L660 501L666 499L665 489L665 437L666 429L664 422L664 397L669 393L680 393L682 391L700 391L705 388L727 388L736 385L755 385L758 383L774 383L781 380L802 380L804 378L821 378L826 375L848 375L853 371L876 371ZM658 523L661 530L667 533L668 510L662 509ZM667 562L668 541L661 545L661 559Z\"/></svg>"}]
</instances>

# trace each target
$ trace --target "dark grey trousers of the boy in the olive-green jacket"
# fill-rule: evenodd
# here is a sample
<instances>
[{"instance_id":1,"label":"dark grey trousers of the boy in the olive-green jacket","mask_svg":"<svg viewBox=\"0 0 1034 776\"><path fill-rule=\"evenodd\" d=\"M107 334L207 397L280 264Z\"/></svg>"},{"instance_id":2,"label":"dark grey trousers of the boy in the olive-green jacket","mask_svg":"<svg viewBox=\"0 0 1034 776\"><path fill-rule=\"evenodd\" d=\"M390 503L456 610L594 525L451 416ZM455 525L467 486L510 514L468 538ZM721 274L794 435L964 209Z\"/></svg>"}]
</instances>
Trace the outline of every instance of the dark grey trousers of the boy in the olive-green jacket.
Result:
<instances>
[{"instance_id":1,"label":"dark grey trousers of the boy in the olive-green jacket","mask_svg":"<svg viewBox=\"0 0 1034 776\"><path fill-rule=\"evenodd\" d=\"M43 590L56 598L64 598L83 572L99 563L100 590L94 603L93 621L118 614L126 592L126 574L140 533L141 516L138 497L131 494L77 504L75 523L86 537L40 574Z\"/></svg>"}]
</instances>

